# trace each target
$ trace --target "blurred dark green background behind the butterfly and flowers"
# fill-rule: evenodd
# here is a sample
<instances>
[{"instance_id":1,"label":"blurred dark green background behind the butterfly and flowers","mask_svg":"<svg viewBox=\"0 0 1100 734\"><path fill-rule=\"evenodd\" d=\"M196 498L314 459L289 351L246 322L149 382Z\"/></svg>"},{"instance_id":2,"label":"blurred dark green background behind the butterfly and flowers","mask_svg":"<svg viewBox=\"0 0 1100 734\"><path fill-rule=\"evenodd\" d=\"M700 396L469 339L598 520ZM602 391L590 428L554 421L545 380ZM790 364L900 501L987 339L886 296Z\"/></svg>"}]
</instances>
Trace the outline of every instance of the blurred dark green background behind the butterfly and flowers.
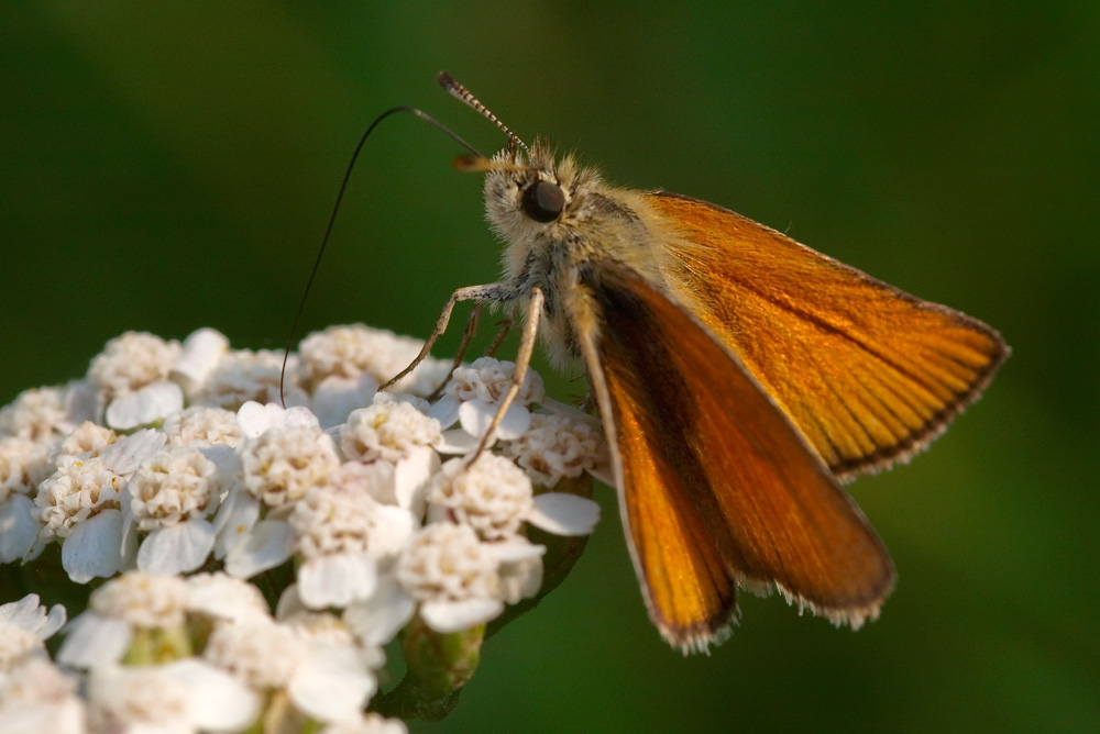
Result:
<instances>
[{"instance_id":1,"label":"blurred dark green background behind the butterfly and flowers","mask_svg":"<svg viewBox=\"0 0 1100 734\"><path fill-rule=\"evenodd\" d=\"M1100 731L1100 4L16 1L0 27L0 402L132 329L280 348L375 115L417 105L503 145L439 69L527 140L1013 346L932 452L849 488L900 571L878 622L745 597L734 637L684 659L605 488L572 577L414 732ZM307 331L424 336L453 288L496 277L460 152L413 118L377 131Z\"/></svg>"}]
</instances>

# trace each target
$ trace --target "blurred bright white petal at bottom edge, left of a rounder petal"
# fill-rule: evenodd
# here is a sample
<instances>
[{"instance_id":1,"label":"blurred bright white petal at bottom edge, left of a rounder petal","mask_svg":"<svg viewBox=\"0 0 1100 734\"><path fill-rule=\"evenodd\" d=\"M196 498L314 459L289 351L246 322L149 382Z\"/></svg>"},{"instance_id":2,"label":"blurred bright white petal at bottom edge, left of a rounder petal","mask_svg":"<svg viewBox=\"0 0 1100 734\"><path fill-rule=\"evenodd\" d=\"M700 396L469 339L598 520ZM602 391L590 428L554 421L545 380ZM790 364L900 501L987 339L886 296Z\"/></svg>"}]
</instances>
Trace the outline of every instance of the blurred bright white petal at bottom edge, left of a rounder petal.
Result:
<instances>
[{"instance_id":1,"label":"blurred bright white petal at bottom edge, left of a rounder petal","mask_svg":"<svg viewBox=\"0 0 1100 734\"><path fill-rule=\"evenodd\" d=\"M256 720L260 697L237 676L199 658L176 660L165 669L189 691L190 720L198 729L240 732Z\"/></svg>"}]
</instances>

